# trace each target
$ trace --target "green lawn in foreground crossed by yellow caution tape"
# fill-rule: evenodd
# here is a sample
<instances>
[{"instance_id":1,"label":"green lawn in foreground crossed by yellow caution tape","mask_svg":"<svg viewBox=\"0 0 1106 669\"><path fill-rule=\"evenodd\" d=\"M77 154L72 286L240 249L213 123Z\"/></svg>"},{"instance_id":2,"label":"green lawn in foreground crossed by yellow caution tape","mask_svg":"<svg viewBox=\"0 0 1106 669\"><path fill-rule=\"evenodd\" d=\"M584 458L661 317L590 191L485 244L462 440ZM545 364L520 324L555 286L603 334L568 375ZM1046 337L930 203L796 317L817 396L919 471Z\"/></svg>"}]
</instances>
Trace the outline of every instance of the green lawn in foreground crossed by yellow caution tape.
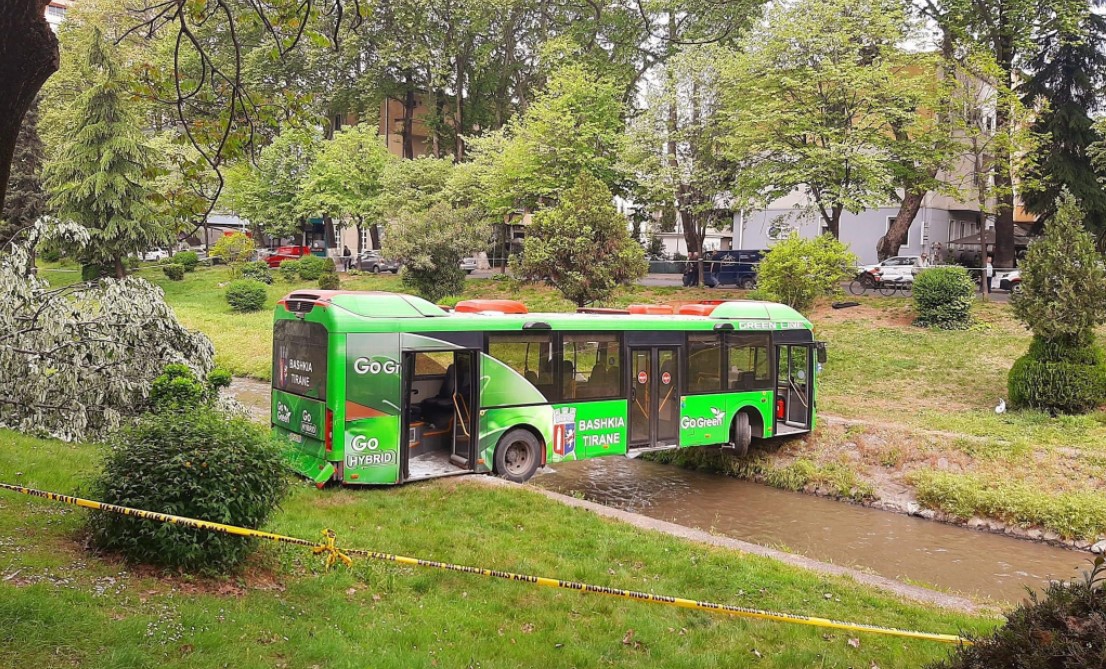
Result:
<instances>
[{"instance_id":1,"label":"green lawn in foreground crossed by yellow caution tape","mask_svg":"<svg viewBox=\"0 0 1106 669\"><path fill-rule=\"evenodd\" d=\"M0 432L0 480L79 492L101 448ZM165 577L86 553L84 513L0 493L0 666L919 667L948 651L388 563L322 573L319 557L268 544L225 582ZM300 485L270 526L323 527L345 546L749 607L933 631L995 625L519 489Z\"/></svg>"}]
</instances>

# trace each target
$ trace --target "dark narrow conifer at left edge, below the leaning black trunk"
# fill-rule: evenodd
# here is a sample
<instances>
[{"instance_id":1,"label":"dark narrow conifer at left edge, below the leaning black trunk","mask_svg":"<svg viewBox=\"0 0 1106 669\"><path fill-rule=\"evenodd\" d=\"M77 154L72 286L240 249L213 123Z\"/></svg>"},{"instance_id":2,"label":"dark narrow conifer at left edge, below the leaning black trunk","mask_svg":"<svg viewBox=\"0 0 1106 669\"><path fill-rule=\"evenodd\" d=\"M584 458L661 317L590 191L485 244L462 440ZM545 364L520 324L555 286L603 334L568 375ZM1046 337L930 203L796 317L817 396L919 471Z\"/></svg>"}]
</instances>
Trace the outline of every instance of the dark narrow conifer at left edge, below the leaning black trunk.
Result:
<instances>
[{"instance_id":1,"label":"dark narrow conifer at left edge, below the leaning black trunk","mask_svg":"<svg viewBox=\"0 0 1106 669\"><path fill-rule=\"evenodd\" d=\"M23 116L15 140L8 197L3 203L3 217L0 218L0 251L20 230L46 212L46 194L41 178L44 151L38 126L39 103L35 101Z\"/></svg>"}]
</instances>

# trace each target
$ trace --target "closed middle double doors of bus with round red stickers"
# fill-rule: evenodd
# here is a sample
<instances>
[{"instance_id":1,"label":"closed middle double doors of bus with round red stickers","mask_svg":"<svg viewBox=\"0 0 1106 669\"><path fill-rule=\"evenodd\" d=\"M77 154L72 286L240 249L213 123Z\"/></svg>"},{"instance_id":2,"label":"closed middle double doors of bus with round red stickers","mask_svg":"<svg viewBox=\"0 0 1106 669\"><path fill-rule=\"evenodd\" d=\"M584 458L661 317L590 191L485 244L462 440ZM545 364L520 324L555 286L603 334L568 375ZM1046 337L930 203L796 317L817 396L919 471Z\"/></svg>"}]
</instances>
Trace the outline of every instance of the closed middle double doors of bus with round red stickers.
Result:
<instances>
[{"instance_id":1,"label":"closed middle double doors of bus with round red stickers","mask_svg":"<svg viewBox=\"0 0 1106 669\"><path fill-rule=\"evenodd\" d=\"M679 354L676 348L630 349L629 448L679 440Z\"/></svg>"}]
</instances>

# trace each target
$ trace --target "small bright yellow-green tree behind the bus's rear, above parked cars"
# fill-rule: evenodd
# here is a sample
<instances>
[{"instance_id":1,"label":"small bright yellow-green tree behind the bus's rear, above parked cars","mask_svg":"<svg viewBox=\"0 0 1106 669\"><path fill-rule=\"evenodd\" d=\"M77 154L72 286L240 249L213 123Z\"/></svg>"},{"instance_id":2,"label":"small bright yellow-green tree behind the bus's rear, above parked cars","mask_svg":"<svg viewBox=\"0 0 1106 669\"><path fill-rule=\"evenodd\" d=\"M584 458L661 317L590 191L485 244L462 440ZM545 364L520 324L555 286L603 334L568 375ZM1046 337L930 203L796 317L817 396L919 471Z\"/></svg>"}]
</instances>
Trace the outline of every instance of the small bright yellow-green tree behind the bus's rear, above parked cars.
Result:
<instances>
[{"instance_id":1,"label":"small bright yellow-green tree behind the bus's rear, above parked cars","mask_svg":"<svg viewBox=\"0 0 1106 669\"><path fill-rule=\"evenodd\" d=\"M307 216L331 216L342 224L357 228L357 252L362 249L362 228L369 226L373 248L380 248L380 195L385 166L392 158L376 128L358 125L335 133L324 142L300 196L301 210Z\"/></svg>"}]
</instances>

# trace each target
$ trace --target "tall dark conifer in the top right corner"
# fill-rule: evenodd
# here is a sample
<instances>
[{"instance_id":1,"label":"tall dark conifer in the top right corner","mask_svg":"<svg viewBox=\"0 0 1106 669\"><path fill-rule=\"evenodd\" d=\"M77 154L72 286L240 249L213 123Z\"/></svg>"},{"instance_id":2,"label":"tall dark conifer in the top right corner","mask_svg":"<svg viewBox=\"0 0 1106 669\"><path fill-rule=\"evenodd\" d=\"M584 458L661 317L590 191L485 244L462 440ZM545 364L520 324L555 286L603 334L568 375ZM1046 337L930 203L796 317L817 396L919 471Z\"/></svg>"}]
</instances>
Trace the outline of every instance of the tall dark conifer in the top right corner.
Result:
<instances>
[{"instance_id":1,"label":"tall dark conifer in the top right corner","mask_svg":"<svg viewBox=\"0 0 1106 669\"><path fill-rule=\"evenodd\" d=\"M1066 188L1079 201L1087 230L1103 245L1106 188L1099 179L1106 178L1106 173L1094 168L1087 147L1103 139L1091 116L1103 108L1099 95L1106 84L1106 51L1102 46L1106 43L1106 17L1087 11L1073 28L1062 21L1056 24L1043 35L1029 67L1034 74L1025 84L1026 104L1039 98L1048 102L1047 113L1033 124L1033 132L1048 138L1039 147L1029 175L1036 184L1022 199L1033 213L1052 218Z\"/></svg>"}]
</instances>

